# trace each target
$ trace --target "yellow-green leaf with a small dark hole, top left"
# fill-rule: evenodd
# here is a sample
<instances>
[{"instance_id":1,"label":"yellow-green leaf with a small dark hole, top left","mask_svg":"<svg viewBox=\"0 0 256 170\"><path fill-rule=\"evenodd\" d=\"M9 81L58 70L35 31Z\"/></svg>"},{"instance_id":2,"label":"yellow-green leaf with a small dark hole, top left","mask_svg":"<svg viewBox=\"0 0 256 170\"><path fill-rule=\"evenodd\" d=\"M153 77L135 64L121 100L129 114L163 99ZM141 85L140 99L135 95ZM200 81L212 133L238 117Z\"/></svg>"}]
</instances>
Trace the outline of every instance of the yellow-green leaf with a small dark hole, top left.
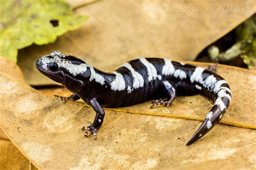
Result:
<instances>
[{"instance_id":1,"label":"yellow-green leaf with a small dark hole, top left","mask_svg":"<svg viewBox=\"0 0 256 170\"><path fill-rule=\"evenodd\" d=\"M0 6L0 55L17 61L18 49L54 42L57 36L76 30L87 19L73 15L64 1L2 1Z\"/></svg>"}]
</instances>

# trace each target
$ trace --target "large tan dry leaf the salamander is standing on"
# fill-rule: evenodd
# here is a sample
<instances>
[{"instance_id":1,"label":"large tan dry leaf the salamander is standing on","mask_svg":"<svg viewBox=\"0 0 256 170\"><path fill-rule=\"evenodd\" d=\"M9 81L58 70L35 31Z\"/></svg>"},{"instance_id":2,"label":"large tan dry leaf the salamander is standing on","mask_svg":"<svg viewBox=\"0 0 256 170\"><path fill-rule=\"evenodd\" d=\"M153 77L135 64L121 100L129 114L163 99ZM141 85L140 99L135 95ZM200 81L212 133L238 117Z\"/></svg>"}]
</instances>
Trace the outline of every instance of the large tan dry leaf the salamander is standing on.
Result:
<instances>
[{"instance_id":1,"label":"large tan dry leaf the salamander is standing on","mask_svg":"<svg viewBox=\"0 0 256 170\"><path fill-rule=\"evenodd\" d=\"M84 138L79 129L95 116L90 107L59 101L15 80L1 70L2 60L0 127L38 168L255 168L256 75L248 70L218 67L233 91L223 123L254 129L217 125L187 147L186 141L200 125L189 119L203 119L211 107L204 97L178 97L170 108L149 109L150 102L105 108L103 127L94 140ZM156 113L162 116L151 116ZM167 116L178 114L188 120Z\"/></svg>"}]
</instances>

